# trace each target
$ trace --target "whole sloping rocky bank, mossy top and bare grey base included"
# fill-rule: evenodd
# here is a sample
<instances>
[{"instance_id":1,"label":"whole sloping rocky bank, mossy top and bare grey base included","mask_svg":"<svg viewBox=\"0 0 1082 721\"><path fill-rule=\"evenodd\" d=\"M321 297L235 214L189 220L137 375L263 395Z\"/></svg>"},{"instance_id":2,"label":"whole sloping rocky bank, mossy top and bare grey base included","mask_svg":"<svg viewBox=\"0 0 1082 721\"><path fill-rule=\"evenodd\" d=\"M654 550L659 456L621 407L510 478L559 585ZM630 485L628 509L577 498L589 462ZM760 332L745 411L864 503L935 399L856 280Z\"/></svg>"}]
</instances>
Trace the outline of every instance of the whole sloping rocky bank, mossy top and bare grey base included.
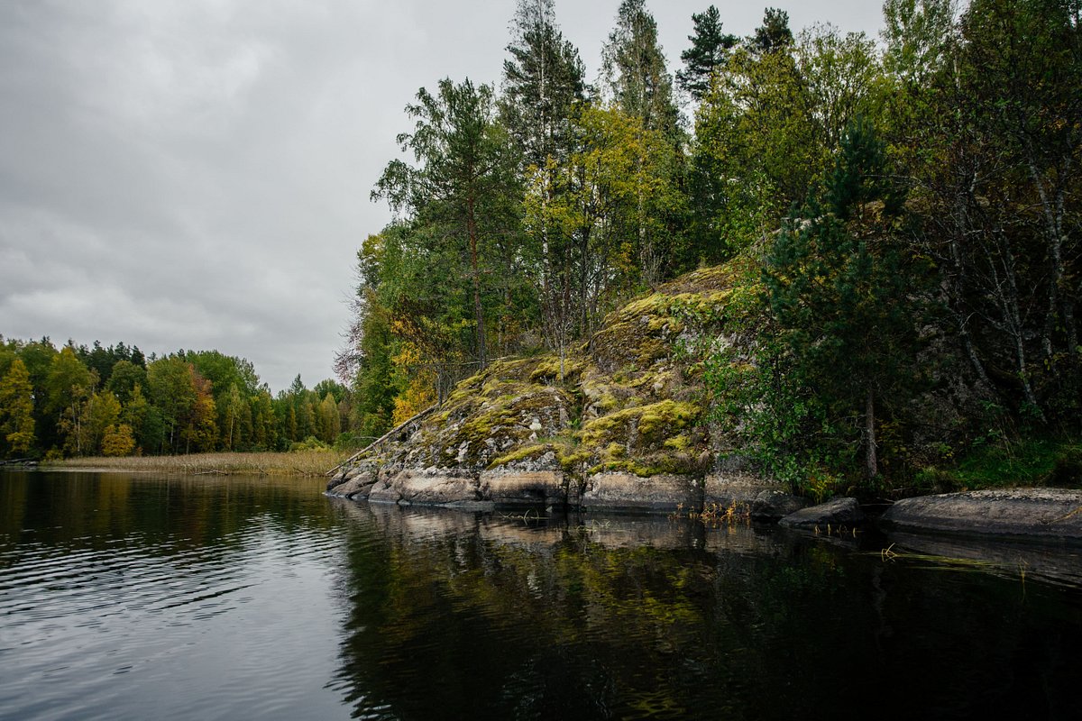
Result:
<instances>
[{"instance_id":1,"label":"whole sloping rocky bank, mossy top and bare grey base included","mask_svg":"<svg viewBox=\"0 0 1082 721\"><path fill-rule=\"evenodd\" d=\"M464 508L672 512L803 503L740 463L709 423L703 358L727 329L736 264L704 268L610 313L566 357L504 359L462 382L331 479L333 495ZM730 458L731 458L730 454Z\"/></svg>"}]
</instances>

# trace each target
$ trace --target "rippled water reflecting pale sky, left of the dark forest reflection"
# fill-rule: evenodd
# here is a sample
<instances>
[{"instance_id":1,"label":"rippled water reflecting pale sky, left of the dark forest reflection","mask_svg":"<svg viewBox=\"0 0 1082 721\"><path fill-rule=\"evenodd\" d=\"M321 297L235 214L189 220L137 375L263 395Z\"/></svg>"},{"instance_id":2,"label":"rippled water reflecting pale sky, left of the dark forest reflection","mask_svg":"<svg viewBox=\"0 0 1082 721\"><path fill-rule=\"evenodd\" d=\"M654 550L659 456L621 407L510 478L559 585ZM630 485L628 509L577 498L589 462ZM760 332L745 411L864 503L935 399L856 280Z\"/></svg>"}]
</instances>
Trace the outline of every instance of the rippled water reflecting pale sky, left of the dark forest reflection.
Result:
<instances>
[{"instance_id":1,"label":"rippled water reflecting pale sky, left of the dark forest reflection","mask_svg":"<svg viewBox=\"0 0 1082 721\"><path fill-rule=\"evenodd\" d=\"M9 473L0 508L0 717L347 716L318 485Z\"/></svg>"}]
</instances>

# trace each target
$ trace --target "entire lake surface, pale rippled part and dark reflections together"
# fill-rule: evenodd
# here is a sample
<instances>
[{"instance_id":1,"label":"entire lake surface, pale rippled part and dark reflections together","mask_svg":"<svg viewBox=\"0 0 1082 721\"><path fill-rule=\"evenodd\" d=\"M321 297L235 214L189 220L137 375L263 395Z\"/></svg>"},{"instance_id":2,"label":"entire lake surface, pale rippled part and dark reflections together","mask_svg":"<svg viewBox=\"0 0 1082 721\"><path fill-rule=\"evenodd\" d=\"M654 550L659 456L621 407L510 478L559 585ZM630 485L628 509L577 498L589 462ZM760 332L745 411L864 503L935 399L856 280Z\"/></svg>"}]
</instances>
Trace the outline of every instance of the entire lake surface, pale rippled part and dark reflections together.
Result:
<instances>
[{"instance_id":1,"label":"entire lake surface, pale rippled part and dark reflections together","mask_svg":"<svg viewBox=\"0 0 1082 721\"><path fill-rule=\"evenodd\" d=\"M1042 574L320 485L0 473L0 717L1082 718L1070 549Z\"/></svg>"}]
</instances>

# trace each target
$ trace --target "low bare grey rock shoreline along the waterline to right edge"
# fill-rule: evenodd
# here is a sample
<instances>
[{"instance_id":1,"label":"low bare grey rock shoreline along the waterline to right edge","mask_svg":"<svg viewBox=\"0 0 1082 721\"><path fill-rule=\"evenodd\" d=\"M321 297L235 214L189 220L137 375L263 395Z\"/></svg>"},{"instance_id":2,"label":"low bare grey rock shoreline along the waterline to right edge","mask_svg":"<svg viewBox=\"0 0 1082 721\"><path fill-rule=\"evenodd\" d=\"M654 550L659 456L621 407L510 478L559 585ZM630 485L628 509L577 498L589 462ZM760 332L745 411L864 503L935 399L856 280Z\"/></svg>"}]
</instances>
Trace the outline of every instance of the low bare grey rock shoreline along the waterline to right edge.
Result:
<instances>
[{"instance_id":1,"label":"low bare grey rock shoreline along the waterline to right edge","mask_svg":"<svg viewBox=\"0 0 1082 721\"><path fill-rule=\"evenodd\" d=\"M597 473L583 483L557 471L387 469L360 464L334 476L326 495L384 506L466 511L545 508L603 513L672 516L718 513L828 535L879 529L884 533L1082 545L1082 490L993 489L914 496L878 513L855 498L819 505L753 477L635 477Z\"/></svg>"}]
</instances>

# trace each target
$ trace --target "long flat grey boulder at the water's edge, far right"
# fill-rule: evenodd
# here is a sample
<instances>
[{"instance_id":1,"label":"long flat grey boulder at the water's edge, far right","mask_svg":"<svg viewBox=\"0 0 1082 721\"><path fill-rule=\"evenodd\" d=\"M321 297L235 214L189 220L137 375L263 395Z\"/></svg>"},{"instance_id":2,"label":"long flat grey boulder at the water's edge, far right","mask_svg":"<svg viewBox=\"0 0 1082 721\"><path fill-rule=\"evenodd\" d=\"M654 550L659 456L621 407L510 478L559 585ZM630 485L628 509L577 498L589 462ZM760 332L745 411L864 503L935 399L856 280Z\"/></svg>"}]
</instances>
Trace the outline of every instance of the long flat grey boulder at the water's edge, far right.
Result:
<instances>
[{"instance_id":1,"label":"long flat grey boulder at the water's edge, far right","mask_svg":"<svg viewBox=\"0 0 1082 721\"><path fill-rule=\"evenodd\" d=\"M886 529L1082 540L1082 491L1003 489L906 498Z\"/></svg>"}]
</instances>

